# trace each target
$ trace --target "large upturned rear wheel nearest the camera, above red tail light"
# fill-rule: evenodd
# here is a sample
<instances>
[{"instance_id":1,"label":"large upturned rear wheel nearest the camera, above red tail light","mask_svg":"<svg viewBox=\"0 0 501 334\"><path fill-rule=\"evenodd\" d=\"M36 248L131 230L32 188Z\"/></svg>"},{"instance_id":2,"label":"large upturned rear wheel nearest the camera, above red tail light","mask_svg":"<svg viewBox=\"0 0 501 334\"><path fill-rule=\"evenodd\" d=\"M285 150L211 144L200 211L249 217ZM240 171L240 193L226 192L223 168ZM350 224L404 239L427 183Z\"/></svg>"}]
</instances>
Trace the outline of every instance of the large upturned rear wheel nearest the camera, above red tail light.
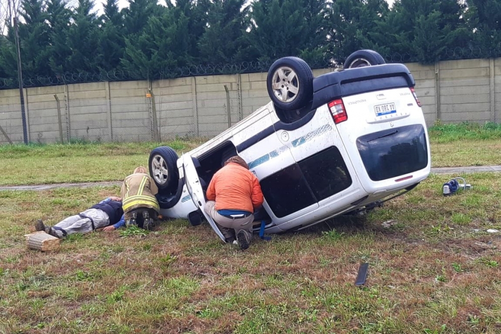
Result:
<instances>
[{"instance_id":1,"label":"large upturned rear wheel nearest the camera, above red tail light","mask_svg":"<svg viewBox=\"0 0 501 334\"><path fill-rule=\"evenodd\" d=\"M287 80L284 76L291 76L292 79ZM279 84L280 86L277 86ZM301 58L280 58L271 65L268 71L266 88L271 101L278 108L300 109L312 99L313 72L306 61Z\"/></svg>"}]
</instances>

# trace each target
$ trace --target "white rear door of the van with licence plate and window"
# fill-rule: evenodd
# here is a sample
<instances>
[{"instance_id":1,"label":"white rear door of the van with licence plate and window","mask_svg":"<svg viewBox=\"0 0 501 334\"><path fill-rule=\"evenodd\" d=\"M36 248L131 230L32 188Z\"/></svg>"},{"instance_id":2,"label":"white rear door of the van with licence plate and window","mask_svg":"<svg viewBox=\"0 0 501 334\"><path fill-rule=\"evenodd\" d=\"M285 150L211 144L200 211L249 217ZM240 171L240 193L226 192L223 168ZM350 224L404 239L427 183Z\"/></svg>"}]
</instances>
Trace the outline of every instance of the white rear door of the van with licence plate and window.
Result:
<instances>
[{"instance_id":1,"label":"white rear door of the van with licence plate and window","mask_svg":"<svg viewBox=\"0 0 501 334\"><path fill-rule=\"evenodd\" d=\"M409 88L343 97L347 120L336 124L368 192L421 181L430 150L421 108Z\"/></svg>"}]
</instances>

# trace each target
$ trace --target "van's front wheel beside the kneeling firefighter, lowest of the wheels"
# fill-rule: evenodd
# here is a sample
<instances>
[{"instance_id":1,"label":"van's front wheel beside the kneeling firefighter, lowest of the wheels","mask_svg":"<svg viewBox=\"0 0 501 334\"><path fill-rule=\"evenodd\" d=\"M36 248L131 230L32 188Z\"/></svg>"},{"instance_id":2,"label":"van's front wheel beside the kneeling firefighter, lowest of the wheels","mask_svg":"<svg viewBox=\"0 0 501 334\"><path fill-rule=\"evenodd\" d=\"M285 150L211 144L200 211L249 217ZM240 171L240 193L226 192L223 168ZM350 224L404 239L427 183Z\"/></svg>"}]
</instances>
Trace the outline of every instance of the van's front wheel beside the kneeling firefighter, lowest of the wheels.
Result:
<instances>
[{"instance_id":1,"label":"van's front wheel beside the kneeling firefighter, lowest of the wheels","mask_svg":"<svg viewBox=\"0 0 501 334\"><path fill-rule=\"evenodd\" d=\"M150 153L150 175L159 190L177 189L179 172L176 151L168 146L157 147Z\"/></svg>"}]
</instances>

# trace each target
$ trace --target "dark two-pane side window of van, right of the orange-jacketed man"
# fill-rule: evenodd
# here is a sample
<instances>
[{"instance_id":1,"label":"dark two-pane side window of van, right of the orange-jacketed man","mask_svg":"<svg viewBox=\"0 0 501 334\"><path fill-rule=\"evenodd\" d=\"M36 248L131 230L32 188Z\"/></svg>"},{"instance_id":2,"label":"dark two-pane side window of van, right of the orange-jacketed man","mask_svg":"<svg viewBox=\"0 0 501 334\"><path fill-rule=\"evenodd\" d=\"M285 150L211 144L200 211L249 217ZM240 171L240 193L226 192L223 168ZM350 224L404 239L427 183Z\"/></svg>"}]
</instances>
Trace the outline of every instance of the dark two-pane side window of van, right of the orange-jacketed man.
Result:
<instances>
[{"instance_id":1,"label":"dark two-pane side window of van, right of the orange-jacketed man","mask_svg":"<svg viewBox=\"0 0 501 334\"><path fill-rule=\"evenodd\" d=\"M341 153L330 147L260 183L273 214L281 218L348 188L352 181Z\"/></svg>"}]
</instances>

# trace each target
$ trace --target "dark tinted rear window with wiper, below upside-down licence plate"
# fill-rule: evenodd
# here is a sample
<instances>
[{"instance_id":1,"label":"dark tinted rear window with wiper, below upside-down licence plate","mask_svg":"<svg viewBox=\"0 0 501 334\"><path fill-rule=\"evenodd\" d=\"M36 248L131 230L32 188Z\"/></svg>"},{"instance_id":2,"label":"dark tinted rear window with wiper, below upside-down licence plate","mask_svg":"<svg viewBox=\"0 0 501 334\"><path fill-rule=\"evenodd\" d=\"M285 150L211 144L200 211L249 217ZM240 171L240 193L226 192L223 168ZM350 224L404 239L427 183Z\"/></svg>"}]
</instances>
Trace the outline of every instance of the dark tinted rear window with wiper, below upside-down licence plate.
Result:
<instances>
[{"instance_id":1,"label":"dark tinted rear window with wiper, below upside-down licence plate","mask_svg":"<svg viewBox=\"0 0 501 334\"><path fill-rule=\"evenodd\" d=\"M426 134L420 124L370 133L358 138L356 147L373 181L409 174L428 165Z\"/></svg>"}]
</instances>

